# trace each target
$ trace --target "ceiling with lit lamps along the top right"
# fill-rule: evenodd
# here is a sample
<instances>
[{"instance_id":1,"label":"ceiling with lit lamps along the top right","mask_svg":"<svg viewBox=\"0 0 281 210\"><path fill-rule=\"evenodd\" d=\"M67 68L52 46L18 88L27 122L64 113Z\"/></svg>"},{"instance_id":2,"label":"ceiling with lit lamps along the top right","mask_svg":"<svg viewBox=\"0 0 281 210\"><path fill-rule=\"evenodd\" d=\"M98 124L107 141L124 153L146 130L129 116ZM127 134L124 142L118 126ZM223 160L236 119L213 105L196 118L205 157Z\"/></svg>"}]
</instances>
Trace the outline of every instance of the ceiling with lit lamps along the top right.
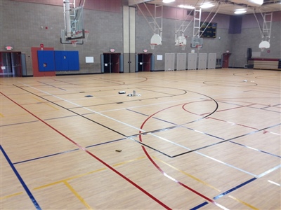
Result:
<instances>
[{"instance_id":1,"label":"ceiling with lit lamps along the top right","mask_svg":"<svg viewBox=\"0 0 281 210\"><path fill-rule=\"evenodd\" d=\"M129 0L129 5L133 6L143 2L171 7L178 7L180 4L185 4L197 6L198 8L202 3L211 2L215 6L213 8L204 8L202 9L202 12L215 13L216 10L218 10L218 13L226 15L235 15L234 10L240 8L247 8L247 13L244 14L254 13L254 10L256 10L256 13L266 13L281 10L281 1L276 0L264 0L262 6L256 7L251 6L251 3L247 3L247 0L175 0L172 3L163 3L162 0Z\"/></svg>"}]
</instances>

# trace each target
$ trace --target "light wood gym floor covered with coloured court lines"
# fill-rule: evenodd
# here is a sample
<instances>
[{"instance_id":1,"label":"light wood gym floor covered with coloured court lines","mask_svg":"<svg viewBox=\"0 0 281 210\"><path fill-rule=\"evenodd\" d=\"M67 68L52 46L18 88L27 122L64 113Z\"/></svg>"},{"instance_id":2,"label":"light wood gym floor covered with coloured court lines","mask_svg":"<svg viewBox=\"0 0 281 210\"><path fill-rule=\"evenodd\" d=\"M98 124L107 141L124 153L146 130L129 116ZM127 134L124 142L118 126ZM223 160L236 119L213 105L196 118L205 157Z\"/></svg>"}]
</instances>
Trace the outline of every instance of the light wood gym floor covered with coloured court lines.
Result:
<instances>
[{"instance_id":1,"label":"light wood gym floor covered with coloured court lines","mask_svg":"<svg viewBox=\"0 0 281 210\"><path fill-rule=\"evenodd\" d=\"M1 209L281 209L280 73L1 78Z\"/></svg>"}]
</instances>

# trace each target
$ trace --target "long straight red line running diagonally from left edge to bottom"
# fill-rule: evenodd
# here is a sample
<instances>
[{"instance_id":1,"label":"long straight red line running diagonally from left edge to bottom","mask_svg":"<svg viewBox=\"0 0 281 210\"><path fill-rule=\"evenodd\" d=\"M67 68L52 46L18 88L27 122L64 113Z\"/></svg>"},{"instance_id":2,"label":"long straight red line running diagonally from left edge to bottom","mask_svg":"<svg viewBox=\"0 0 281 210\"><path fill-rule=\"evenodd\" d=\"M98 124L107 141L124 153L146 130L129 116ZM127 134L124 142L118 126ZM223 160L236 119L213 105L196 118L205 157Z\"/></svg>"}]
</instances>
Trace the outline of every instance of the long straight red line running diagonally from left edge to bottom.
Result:
<instances>
[{"instance_id":1,"label":"long straight red line running diagonally from left edge to bottom","mask_svg":"<svg viewBox=\"0 0 281 210\"><path fill-rule=\"evenodd\" d=\"M60 134L61 136L65 137L65 139L67 139L68 141L72 142L73 144L75 144L77 147L79 147L82 151L85 151L86 153L88 153L89 155L91 155L93 158L95 158L96 160L98 160L99 162L101 162L103 165L105 165L107 168L111 169L112 172L115 172L116 174L118 174L119 176L121 176L123 179L125 179L126 181L128 181L129 183L131 183L133 186L135 186L136 188L138 188L138 190L141 190L143 193L145 193L145 195L148 195L148 197L152 198L152 200L155 200L155 202L157 202L158 204L162 205L162 207L166 208L166 209L171 209L170 207L166 206L166 204L164 204L163 202L161 202L160 200L158 200L156 197L154 197L153 195L151 195L150 193L148 193L148 191L144 190L143 188L141 188L141 186L138 186L136 183L134 183L133 181L131 181L129 178L127 178L126 176L124 176L123 174L121 174L120 172L118 172L116 169L114 169L113 167L111 167L110 165L108 165L106 162L104 162L103 160L101 160L100 158L98 158L96 155L93 155L93 153L89 152L86 150L86 148L80 146L79 144L77 144L77 142L73 141L72 139L70 139L69 137L67 137L65 134L63 134L62 132L56 130L53 126L49 125L48 123L46 123L44 120L42 120L41 118L39 118L38 116L36 116L34 113L28 111L27 109L25 109L23 106L21 106L20 104L18 104L17 102L13 101L13 99L9 98L6 96L6 94L0 92L2 95L4 95L4 97L6 97L7 99L11 100L11 102L13 102L14 104L20 106L20 108L24 109L25 111L27 111L27 113L30 113L32 116L34 116L34 118L37 118L38 120L40 120L42 123L44 123L45 125L47 125L48 127L50 127L52 130L54 130L55 132L57 132L58 134Z\"/></svg>"}]
</instances>

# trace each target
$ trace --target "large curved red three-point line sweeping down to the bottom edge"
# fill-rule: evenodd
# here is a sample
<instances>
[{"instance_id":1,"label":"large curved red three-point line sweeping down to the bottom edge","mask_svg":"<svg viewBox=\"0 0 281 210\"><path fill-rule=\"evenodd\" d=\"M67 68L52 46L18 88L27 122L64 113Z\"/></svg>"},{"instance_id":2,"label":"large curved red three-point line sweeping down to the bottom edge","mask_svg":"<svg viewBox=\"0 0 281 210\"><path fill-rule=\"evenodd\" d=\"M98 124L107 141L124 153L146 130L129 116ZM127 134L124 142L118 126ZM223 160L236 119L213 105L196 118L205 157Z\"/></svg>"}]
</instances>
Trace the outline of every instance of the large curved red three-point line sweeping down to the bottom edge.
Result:
<instances>
[{"instance_id":1,"label":"large curved red three-point line sweeping down to the bottom edge","mask_svg":"<svg viewBox=\"0 0 281 210\"><path fill-rule=\"evenodd\" d=\"M186 103L186 104L188 104L188 103ZM184 107L186 104L183 104L182 109L183 109L183 107ZM179 105L182 105L182 104L178 104L178 105L174 105L174 106L179 106ZM157 114L157 113L159 113L159 112L161 112L161 111L164 111L164 110L166 110L166 109L170 109L171 107L174 107L174 106L170 106L170 107L168 107L168 108L165 108L165 109L162 109L162 110L160 110L160 111L157 111L156 113L153 113L151 116L149 116L148 118L145 119L145 121L144 121L143 124L141 125L141 129L143 129L143 126L145 125L145 123L147 123L148 120L149 120L150 118L152 118L152 116L155 116L155 114ZM183 110L185 110L185 109L183 109ZM140 131L139 133L141 134L141 131ZM138 138L140 139L141 142L143 142L142 135L138 135ZM150 162L152 162L152 164L155 165L155 167L159 170L159 172L161 172L164 176L166 176L167 178L171 179L172 181L178 183L179 185L183 186L184 188L190 190L192 193L195 193L195 194L199 195L200 197L203 197L205 200L211 202L212 204L215 204L217 207L220 207L221 209L226 209L225 207L221 206L221 204L218 204L218 203L214 202L214 200L211 200L209 197L206 197L206 196L202 195L201 193L197 192L196 190L194 190L194 189L192 189L192 188L186 186L184 183L181 183L181 181L178 181L178 180L174 179L173 177L169 176L168 174L166 174L166 173L156 164L156 162L155 162L154 160L152 160L152 158L151 158L150 155L148 154L148 151L146 150L146 148L145 148L144 146L142 146L142 148L143 148L143 151L145 152L145 155L149 158Z\"/></svg>"}]
</instances>

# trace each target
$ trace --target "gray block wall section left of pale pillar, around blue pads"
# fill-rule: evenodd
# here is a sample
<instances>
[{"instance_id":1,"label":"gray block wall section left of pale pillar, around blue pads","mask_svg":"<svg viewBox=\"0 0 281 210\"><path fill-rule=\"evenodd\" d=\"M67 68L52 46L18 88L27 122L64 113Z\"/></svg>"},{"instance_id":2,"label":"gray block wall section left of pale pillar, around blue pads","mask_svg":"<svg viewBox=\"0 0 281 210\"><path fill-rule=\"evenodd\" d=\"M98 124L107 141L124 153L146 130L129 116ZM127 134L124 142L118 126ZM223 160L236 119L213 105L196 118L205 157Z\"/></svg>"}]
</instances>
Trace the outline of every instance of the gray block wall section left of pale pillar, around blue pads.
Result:
<instances>
[{"instance_id":1,"label":"gray block wall section left of pale pillar, around blue pads","mask_svg":"<svg viewBox=\"0 0 281 210\"><path fill-rule=\"evenodd\" d=\"M1 18L0 48L5 50L6 45L12 45L14 51L25 53L27 76L32 76L31 48L40 47L41 43L55 50L78 50L80 71L71 73L100 73L100 54L110 48L123 52L122 13L84 10L84 26L90 34L84 45L75 48L60 43L63 6L5 1L1 4ZM94 63L86 64L85 57L94 57Z\"/></svg>"}]
</instances>

